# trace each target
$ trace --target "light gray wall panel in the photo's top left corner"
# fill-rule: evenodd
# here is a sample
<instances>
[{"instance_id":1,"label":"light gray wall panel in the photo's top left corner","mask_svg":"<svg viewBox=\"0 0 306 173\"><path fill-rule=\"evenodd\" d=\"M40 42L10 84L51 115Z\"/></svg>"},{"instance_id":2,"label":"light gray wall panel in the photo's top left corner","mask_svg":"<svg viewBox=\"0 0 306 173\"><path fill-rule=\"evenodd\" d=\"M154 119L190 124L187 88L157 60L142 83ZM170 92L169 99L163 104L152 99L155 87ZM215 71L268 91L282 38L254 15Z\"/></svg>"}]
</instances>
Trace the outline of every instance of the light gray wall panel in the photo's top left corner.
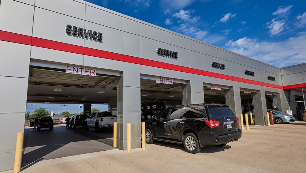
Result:
<instances>
[{"instance_id":1,"label":"light gray wall panel in the photo's top left corner","mask_svg":"<svg viewBox=\"0 0 306 173\"><path fill-rule=\"evenodd\" d=\"M34 6L11 0L2 0L0 30L32 36L33 15Z\"/></svg>"}]
</instances>

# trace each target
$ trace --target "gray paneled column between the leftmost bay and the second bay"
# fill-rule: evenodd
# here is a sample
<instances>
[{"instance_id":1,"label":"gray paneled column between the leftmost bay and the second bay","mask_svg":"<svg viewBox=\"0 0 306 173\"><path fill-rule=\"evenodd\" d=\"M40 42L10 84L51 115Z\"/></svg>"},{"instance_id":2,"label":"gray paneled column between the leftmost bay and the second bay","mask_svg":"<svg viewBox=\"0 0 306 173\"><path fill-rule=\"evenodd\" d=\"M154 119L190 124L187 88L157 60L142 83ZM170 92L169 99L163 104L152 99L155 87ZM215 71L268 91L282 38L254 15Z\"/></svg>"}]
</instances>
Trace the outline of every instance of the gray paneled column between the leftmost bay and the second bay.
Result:
<instances>
[{"instance_id":1,"label":"gray paneled column between the leftmost bay and the second bay","mask_svg":"<svg viewBox=\"0 0 306 173\"><path fill-rule=\"evenodd\" d=\"M140 65L124 63L117 84L117 148L126 150L126 127L131 123L131 149L141 147Z\"/></svg>"}]
</instances>

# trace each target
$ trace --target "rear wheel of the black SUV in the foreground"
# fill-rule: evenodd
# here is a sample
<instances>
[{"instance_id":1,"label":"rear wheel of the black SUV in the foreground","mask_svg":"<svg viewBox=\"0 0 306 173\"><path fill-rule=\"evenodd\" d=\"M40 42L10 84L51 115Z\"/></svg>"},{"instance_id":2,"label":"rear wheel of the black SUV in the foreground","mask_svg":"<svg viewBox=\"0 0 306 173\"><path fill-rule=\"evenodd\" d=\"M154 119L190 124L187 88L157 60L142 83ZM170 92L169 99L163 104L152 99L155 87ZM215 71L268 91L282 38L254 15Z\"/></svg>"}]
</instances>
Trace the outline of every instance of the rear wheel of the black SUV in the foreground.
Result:
<instances>
[{"instance_id":1,"label":"rear wheel of the black SUV in the foreground","mask_svg":"<svg viewBox=\"0 0 306 173\"><path fill-rule=\"evenodd\" d=\"M184 148L189 153L198 153L201 151L198 138L193 133L188 133L184 136Z\"/></svg>"}]
</instances>

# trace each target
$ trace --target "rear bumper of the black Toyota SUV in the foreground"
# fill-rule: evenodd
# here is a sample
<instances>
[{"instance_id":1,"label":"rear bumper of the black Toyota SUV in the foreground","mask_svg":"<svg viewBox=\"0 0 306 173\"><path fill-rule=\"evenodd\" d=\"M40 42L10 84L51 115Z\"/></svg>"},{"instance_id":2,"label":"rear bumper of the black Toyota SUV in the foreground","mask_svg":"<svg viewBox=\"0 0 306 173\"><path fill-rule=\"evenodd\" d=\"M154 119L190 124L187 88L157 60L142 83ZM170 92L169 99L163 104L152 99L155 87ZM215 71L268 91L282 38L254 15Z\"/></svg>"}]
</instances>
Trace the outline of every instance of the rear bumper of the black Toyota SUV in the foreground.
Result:
<instances>
[{"instance_id":1,"label":"rear bumper of the black Toyota SUV in the foreground","mask_svg":"<svg viewBox=\"0 0 306 173\"><path fill-rule=\"evenodd\" d=\"M238 129L237 132L226 135L217 135L215 133L209 133L206 135L199 136L200 143L202 145L219 145L226 144L232 141L238 141L241 138L241 130Z\"/></svg>"}]
</instances>

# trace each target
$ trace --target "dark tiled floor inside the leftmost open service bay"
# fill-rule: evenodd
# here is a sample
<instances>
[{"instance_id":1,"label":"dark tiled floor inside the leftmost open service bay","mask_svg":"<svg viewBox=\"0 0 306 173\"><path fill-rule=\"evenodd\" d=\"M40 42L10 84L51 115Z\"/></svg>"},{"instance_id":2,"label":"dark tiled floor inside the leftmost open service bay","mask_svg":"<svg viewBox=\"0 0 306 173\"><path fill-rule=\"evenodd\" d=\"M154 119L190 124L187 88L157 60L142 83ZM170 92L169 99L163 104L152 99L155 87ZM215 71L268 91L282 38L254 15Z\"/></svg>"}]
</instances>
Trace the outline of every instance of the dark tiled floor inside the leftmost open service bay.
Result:
<instances>
[{"instance_id":1,"label":"dark tiled floor inside the leftmost open service bay","mask_svg":"<svg viewBox=\"0 0 306 173\"><path fill-rule=\"evenodd\" d=\"M84 128L66 129L66 126L54 126L54 130L24 129L24 154L22 163L35 160L47 160L59 157L105 151L113 148L112 129L94 133Z\"/></svg>"}]
</instances>

